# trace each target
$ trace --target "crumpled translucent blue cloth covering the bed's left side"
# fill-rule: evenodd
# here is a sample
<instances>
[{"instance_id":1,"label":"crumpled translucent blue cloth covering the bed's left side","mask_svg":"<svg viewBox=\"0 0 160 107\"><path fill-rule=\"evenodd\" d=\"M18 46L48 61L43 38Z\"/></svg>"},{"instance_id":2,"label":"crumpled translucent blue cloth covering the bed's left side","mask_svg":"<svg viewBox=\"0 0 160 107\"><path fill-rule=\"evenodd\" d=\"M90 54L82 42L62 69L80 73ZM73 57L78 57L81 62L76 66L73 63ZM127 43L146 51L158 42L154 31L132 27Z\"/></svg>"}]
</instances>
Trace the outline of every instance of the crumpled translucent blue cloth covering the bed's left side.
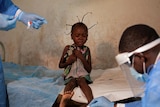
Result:
<instances>
[{"instance_id":1,"label":"crumpled translucent blue cloth covering the bed's left side","mask_svg":"<svg viewBox=\"0 0 160 107\"><path fill-rule=\"evenodd\" d=\"M3 63L10 107L51 107L64 88L62 70Z\"/></svg>"}]
</instances>

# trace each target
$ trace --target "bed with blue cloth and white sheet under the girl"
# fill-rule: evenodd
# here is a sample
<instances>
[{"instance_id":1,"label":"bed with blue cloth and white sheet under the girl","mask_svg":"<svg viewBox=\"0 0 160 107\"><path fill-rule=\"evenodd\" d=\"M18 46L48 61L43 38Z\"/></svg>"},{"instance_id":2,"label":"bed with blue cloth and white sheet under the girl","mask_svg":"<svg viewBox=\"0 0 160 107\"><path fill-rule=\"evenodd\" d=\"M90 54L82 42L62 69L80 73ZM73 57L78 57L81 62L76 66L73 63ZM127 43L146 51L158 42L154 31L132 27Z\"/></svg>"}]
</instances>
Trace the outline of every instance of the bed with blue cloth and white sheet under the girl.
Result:
<instances>
[{"instance_id":1,"label":"bed with blue cloth and white sheet under the girl","mask_svg":"<svg viewBox=\"0 0 160 107\"><path fill-rule=\"evenodd\" d=\"M3 62L10 107L56 107L64 89L63 70L43 66L22 66ZM132 91L119 67L92 70L94 97L105 96L111 101L132 97ZM80 90L74 89L72 103L80 105L87 100Z\"/></svg>"}]
</instances>

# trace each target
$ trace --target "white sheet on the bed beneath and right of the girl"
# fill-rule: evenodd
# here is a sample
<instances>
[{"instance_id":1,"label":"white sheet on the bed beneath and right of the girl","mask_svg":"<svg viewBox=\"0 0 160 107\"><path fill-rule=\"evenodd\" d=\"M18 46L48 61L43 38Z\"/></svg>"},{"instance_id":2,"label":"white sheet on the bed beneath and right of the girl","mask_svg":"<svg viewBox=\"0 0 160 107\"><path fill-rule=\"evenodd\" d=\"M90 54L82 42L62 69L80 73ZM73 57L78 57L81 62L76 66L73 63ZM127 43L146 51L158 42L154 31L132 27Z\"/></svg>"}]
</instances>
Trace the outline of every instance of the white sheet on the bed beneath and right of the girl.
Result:
<instances>
[{"instance_id":1,"label":"white sheet on the bed beneath and right of the girl","mask_svg":"<svg viewBox=\"0 0 160 107\"><path fill-rule=\"evenodd\" d=\"M94 82L89 86L92 89L94 98L105 96L111 101L117 101L133 96L119 67L107 70L93 70L91 77ZM74 89L72 100L83 103L87 102L86 97L79 87Z\"/></svg>"}]
</instances>

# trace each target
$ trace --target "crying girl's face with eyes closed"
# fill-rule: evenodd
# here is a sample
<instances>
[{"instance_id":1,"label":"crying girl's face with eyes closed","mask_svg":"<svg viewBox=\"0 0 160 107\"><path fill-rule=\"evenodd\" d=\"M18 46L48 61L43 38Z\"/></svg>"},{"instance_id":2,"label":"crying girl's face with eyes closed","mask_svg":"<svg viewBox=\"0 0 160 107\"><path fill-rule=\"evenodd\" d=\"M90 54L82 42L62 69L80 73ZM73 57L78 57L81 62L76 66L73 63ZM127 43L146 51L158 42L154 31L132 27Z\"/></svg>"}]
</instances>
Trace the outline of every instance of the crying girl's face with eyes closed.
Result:
<instances>
[{"instance_id":1,"label":"crying girl's face with eyes closed","mask_svg":"<svg viewBox=\"0 0 160 107\"><path fill-rule=\"evenodd\" d=\"M76 27L73 30L71 37L74 41L74 44L78 47L81 47L87 41L88 32L83 27Z\"/></svg>"}]
</instances>

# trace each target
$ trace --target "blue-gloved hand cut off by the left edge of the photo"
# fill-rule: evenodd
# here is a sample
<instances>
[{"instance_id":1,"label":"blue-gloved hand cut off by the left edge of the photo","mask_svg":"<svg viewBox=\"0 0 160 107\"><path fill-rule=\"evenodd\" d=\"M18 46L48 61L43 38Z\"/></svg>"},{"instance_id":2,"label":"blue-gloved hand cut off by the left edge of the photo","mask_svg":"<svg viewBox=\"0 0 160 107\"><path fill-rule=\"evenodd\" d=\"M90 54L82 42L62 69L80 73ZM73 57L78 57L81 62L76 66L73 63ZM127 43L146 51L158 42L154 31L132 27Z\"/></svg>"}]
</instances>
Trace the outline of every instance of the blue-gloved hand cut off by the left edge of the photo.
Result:
<instances>
[{"instance_id":1,"label":"blue-gloved hand cut off by the left edge of the photo","mask_svg":"<svg viewBox=\"0 0 160 107\"><path fill-rule=\"evenodd\" d=\"M16 27L17 18L0 14L0 30L11 30Z\"/></svg>"}]
</instances>

